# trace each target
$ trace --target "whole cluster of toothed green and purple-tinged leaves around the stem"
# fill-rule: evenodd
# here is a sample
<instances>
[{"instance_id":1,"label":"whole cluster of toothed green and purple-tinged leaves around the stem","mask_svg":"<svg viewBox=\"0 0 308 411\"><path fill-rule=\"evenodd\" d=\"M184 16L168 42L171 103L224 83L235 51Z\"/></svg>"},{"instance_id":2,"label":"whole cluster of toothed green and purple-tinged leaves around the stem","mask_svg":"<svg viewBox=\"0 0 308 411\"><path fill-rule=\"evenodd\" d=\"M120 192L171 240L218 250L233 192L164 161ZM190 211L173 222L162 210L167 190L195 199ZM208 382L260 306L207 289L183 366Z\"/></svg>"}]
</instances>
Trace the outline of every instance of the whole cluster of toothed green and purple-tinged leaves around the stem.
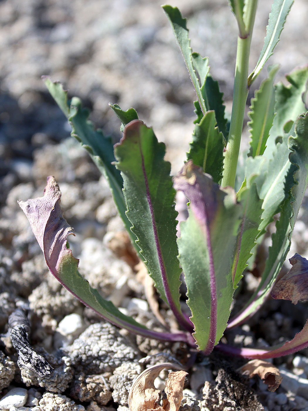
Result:
<instances>
[{"instance_id":1,"label":"whole cluster of toothed green and purple-tinged leaves around the stem","mask_svg":"<svg viewBox=\"0 0 308 411\"><path fill-rule=\"evenodd\" d=\"M186 19L179 10L163 6L197 96L194 103L197 118L187 160L173 181L170 163L164 160L165 145L157 141L151 127L138 119L134 109L124 111L117 104L110 104L122 123L123 132L120 143L113 146L111 140L87 120L88 112L77 97L69 100L60 83L44 78L71 125L72 136L88 150L106 176L131 241L159 296L168 304L182 330L147 329L122 314L80 277L78 260L67 249L67 236L73 230L62 216L60 189L54 178L48 178L43 197L20 202L20 205L51 273L108 321L152 338L197 345L206 354L217 346L244 357L271 358L307 347L308 323L294 339L277 347L240 349L219 341L226 327L244 322L269 296L290 249L292 231L308 183L308 114L304 104L308 67L287 76L289 85L274 85L278 67L269 68L268 78L251 101L250 150L244 169L237 170L238 151L234 149L234 142L241 134L248 89L273 53L292 1L274 1L264 47L250 75L247 59L256 2L246 4L234 0L230 5L239 25L241 57L237 58L237 67L243 68L235 75L235 108L230 129L225 119L222 93L209 74L208 58L192 51ZM248 55L240 53L241 47ZM231 163L228 156L234 157ZM234 174L230 179L233 186L224 184L229 173ZM235 180L240 181L237 191ZM188 218L181 223L179 238L176 190L184 192L189 201ZM276 221L260 284L246 306L229 319L233 294L247 261L277 213L280 218ZM181 272L187 287L190 316L182 309L184 301L180 302ZM298 281L299 275L290 275L285 284L292 287L292 279ZM302 278L299 284L303 284ZM287 294L285 292L284 296ZM297 295L306 296L305 293ZM272 296L280 298L280 293L272 293Z\"/></svg>"}]
</instances>

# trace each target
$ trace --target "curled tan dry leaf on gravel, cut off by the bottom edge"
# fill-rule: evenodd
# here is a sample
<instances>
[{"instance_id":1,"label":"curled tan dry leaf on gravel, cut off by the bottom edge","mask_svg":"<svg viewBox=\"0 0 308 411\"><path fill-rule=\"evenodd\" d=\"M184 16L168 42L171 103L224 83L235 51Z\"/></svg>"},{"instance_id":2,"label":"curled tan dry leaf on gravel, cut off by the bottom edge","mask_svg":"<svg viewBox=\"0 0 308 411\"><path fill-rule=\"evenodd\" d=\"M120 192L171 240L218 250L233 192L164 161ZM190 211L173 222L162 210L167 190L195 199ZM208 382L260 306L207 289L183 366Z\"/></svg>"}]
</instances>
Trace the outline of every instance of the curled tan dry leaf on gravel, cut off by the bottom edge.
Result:
<instances>
[{"instance_id":1,"label":"curled tan dry leaf on gravel, cut off by the bottom edge","mask_svg":"<svg viewBox=\"0 0 308 411\"><path fill-rule=\"evenodd\" d=\"M177 411L183 398L184 380L187 372L181 370L171 372L166 380L165 393L167 399L159 405L160 391L154 386L154 380L163 369L181 369L179 365L162 363L153 365L143 371L134 381L129 391L130 411Z\"/></svg>"}]
</instances>

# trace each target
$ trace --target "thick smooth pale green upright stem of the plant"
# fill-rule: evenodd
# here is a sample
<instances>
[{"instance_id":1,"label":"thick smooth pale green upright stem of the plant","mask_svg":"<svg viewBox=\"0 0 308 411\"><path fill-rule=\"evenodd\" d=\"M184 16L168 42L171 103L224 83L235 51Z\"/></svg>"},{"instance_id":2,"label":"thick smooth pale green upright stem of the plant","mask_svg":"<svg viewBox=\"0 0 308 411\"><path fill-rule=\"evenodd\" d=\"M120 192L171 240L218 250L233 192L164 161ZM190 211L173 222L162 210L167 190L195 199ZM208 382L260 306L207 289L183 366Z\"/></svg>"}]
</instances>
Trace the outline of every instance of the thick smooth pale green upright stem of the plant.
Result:
<instances>
[{"instance_id":1,"label":"thick smooth pale green upright stem of the plant","mask_svg":"<svg viewBox=\"0 0 308 411\"><path fill-rule=\"evenodd\" d=\"M244 38L237 38L237 58L235 63L232 113L228 143L223 161L222 187L229 185L234 188L235 183L239 146L241 144L245 106L248 96L248 62L256 9L257 0L250 0L247 2L244 19L247 35Z\"/></svg>"}]
</instances>

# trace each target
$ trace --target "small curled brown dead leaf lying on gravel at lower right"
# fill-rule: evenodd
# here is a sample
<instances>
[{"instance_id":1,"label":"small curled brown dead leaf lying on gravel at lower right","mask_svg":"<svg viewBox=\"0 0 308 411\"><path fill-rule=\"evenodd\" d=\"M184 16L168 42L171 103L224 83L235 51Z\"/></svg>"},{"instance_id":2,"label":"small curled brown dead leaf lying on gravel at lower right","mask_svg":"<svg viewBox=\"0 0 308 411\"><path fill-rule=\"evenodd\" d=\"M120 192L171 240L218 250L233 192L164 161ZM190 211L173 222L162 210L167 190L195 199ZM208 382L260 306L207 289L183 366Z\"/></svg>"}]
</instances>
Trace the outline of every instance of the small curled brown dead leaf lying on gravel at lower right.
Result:
<instances>
[{"instance_id":1,"label":"small curled brown dead leaf lying on gravel at lower right","mask_svg":"<svg viewBox=\"0 0 308 411\"><path fill-rule=\"evenodd\" d=\"M264 360L248 361L247 364L239 368L239 372L243 375L248 375L249 378L258 375L268 386L269 391L275 391L282 381L279 369Z\"/></svg>"}]
</instances>

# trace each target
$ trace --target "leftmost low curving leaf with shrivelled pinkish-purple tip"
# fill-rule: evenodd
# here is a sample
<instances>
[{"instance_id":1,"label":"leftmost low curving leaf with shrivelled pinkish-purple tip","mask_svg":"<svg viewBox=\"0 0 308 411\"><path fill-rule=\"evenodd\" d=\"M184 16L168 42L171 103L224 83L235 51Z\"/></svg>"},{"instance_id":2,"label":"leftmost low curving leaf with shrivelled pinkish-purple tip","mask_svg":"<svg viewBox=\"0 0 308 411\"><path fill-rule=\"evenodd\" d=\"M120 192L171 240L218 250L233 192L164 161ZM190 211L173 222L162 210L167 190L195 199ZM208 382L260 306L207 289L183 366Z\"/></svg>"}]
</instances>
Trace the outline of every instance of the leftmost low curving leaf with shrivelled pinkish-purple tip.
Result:
<instances>
[{"instance_id":1,"label":"leftmost low curving leaf with shrivelled pinkish-purple tip","mask_svg":"<svg viewBox=\"0 0 308 411\"><path fill-rule=\"evenodd\" d=\"M51 274L78 300L107 321L147 337L183 341L184 333L172 335L152 331L126 316L80 276L77 270L79 260L67 249L67 236L74 234L74 230L62 216L60 197L61 192L55 178L48 177L43 197L18 201L30 222Z\"/></svg>"}]
</instances>

